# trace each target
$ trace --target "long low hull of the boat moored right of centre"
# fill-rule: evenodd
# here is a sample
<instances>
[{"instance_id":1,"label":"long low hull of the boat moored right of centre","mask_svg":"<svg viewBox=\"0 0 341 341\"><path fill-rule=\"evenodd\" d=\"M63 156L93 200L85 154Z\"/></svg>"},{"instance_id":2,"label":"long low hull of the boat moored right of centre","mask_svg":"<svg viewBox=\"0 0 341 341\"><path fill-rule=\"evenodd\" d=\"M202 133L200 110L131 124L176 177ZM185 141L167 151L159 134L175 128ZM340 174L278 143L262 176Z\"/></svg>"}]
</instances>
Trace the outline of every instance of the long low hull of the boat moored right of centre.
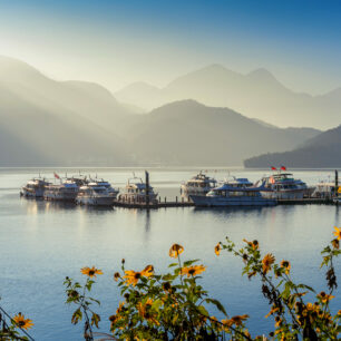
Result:
<instances>
[{"instance_id":1,"label":"long low hull of the boat moored right of centre","mask_svg":"<svg viewBox=\"0 0 341 341\"><path fill-rule=\"evenodd\" d=\"M260 197L218 197L191 195L191 201L199 207L227 207L227 206L274 206L276 201L273 198Z\"/></svg>"}]
</instances>

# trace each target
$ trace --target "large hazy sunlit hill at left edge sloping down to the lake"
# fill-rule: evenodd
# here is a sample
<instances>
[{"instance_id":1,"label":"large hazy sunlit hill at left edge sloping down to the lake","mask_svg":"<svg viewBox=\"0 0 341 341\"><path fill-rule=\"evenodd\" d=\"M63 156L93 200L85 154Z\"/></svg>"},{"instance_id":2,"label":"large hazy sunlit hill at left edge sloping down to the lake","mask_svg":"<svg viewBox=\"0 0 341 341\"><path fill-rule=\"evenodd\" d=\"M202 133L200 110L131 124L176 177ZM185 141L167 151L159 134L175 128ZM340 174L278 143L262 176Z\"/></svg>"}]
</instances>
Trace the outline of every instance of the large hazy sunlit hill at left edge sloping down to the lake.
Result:
<instances>
[{"instance_id":1,"label":"large hazy sunlit hill at left edge sloping down to the lake","mask_svg":"<svg viewBox=\"0 0 341 341\"><path fill-rule=\"evenodd\" d=\"M113 133L125 116L98 85L55 81L0 58L0 166L126 164L126 144Z\"/></svg>"}]
</instances>

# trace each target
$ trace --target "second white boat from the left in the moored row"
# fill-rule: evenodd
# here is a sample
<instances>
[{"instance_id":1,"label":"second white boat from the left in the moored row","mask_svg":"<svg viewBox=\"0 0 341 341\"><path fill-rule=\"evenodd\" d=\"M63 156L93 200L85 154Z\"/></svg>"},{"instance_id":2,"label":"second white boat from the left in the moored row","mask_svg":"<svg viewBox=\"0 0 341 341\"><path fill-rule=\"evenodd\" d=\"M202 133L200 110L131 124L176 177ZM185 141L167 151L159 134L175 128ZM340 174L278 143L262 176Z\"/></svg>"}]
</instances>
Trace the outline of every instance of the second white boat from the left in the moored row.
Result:
<instances>
[{"instance_id":1,"label":"second white boat from the left in the moored row","mask_svg":"<svg viewBox=\"0 0 341 341\"><path fill-rule=\"evenodd\" d=\"M47 201L75 202L78 189L79 187L74 179L66 179L60 184L46 186L43 198Z\"/></svg>"}]
</instances>

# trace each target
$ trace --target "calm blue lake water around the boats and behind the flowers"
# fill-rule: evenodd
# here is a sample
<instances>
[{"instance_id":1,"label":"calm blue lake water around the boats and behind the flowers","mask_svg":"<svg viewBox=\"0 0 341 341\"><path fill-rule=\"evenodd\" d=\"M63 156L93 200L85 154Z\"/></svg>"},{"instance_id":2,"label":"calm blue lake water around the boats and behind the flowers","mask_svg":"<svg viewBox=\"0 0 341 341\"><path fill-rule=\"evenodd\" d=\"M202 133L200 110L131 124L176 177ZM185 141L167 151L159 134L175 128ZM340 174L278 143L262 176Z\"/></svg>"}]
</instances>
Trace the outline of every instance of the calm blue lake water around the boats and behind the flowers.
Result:
<instances>
[{"instance_id":1,"label":"calm blue lake water around the boats and behind the flowers","mask_svg":"<svg viewBox=\"0 0 341 341\"><path fill-rule=\"evenodd\" d=\"M39 169L51 177L55 169ZM77 174L76 169L59 169ZM84 169L97 173L115 186L124 186L131 169ZM143 175L135 169L136 175ZM179 184L194 169L154 169L150 181L162 196L179 195ZM233 175L259 179L265 172L233 170ZM231 314L249 313L255 333L273 324L263 316L269 305L260 293L260 283L241 276L242 263L230 254L214 255L214 245L228 235L242 244L243 237L259 240L264 252L292 262L293 276L324 289L320 251L331 240L332 227L341 225L341 208L335 206L277 206L252 210L167 208L158 211L91 210L62 206L19 197L19 188L38 169L0 168L0 296L11 314L19 311L31 318L31 334L37 340L81 340L81 331L70 324L71 310L64 303L66 275L81 280L79 269L96 265L104 271L94 295L103 301L103 330L107 316L116 311L118 290L113 273L126 259L127 269L142 270L154 264L166 269L173 243L185 247L185 259L201 259L207 266L204 286L221 300ZM222 179L226 170L210 173ZM309 184L328 179L332 172L295 172ZM341 263L337 263L340 279ZM335 293L333 309L340 309Z\"/></svg>"}]
</instances>

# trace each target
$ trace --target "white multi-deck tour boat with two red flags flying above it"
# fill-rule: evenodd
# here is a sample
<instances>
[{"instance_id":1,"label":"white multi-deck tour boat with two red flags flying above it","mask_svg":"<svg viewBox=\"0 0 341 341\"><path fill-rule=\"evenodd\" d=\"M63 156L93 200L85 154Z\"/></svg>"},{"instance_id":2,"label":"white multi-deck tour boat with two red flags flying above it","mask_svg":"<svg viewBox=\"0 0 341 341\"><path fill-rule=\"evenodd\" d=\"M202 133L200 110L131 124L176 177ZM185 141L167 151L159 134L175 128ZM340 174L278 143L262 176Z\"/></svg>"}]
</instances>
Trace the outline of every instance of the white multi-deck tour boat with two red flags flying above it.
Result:
<instances>
[{"instance_id":1,"label":"white multi-deck tour boat with two red flags flying above it","mask_svg":"<svg viewBox=\"0 0 341 341\"><path fill-rule=\"evenodd\" d=\"M264 184L266 191L261 192L266 198L299 199L303 198L308 186L301 179L293 178L291 173L275 173L263 177L257 184ZM256 185L257 185L256 184Z\"/></svg>"}]
</instances>

